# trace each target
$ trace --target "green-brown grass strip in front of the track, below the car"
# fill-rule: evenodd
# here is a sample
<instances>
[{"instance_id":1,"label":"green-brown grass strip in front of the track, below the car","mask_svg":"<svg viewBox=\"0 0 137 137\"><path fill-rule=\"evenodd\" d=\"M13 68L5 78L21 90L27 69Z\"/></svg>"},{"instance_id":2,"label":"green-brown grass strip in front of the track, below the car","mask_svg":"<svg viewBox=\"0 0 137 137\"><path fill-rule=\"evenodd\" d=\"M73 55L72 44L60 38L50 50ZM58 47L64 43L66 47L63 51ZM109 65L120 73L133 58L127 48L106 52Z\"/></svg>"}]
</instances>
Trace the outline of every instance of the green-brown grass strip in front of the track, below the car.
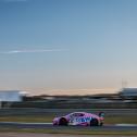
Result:
<instances>
[{"instance_id":1,"label":"green-brown grass strip in front of the track, below the car","mask_svg":"<svg viewBox=\"0 0 137 137\"><path fill-rule=\"evenodd\" d=\"M76 129L76 128L0 128L0 133L41 133L41 134L70 134L70 135L137 135L137 130L103 130L103 129Z\"/></svg>"}]
</instances>

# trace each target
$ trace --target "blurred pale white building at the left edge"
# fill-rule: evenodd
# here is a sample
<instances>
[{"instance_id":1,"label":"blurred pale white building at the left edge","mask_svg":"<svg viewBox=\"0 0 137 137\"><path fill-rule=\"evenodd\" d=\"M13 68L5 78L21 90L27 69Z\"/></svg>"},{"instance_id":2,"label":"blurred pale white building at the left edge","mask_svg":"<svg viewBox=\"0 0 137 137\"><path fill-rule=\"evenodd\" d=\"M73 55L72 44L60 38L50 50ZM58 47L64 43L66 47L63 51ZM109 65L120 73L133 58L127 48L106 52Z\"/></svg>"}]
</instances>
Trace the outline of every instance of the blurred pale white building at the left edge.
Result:
<instances>
[{"instance_id":1,"label":"blurred pale white building at the left edge","mask_svg":"<svg viewBox=\"0 0 137 137\"><path fill-rule=\"evenodd\" d=\"M26 92L21 90L0 90L0 102L21 102Z\"/></svg>"}]
</instances>

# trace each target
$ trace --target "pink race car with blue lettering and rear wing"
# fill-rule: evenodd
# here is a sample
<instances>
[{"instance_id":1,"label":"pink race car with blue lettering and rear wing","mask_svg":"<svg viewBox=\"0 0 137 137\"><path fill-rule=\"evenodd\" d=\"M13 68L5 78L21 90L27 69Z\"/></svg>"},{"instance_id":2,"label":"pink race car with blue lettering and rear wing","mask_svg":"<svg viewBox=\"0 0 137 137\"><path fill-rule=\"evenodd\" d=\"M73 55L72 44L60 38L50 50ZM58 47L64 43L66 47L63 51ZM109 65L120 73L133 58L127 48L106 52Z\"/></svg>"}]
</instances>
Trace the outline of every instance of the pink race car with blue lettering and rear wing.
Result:
<instances>
[{"instance_id":1,"label":"pink race car with blue lettering and rear wing","mask_svg":"<svg viewBox=\"0 0 137 137\"><path fill-rule=\"evenodd\" d=\"M104 113L92 114L87 112L73 112L64 116L54 117L53 125L83 125L83 126L102 126Z\"/></svg>"}]
</instances>

